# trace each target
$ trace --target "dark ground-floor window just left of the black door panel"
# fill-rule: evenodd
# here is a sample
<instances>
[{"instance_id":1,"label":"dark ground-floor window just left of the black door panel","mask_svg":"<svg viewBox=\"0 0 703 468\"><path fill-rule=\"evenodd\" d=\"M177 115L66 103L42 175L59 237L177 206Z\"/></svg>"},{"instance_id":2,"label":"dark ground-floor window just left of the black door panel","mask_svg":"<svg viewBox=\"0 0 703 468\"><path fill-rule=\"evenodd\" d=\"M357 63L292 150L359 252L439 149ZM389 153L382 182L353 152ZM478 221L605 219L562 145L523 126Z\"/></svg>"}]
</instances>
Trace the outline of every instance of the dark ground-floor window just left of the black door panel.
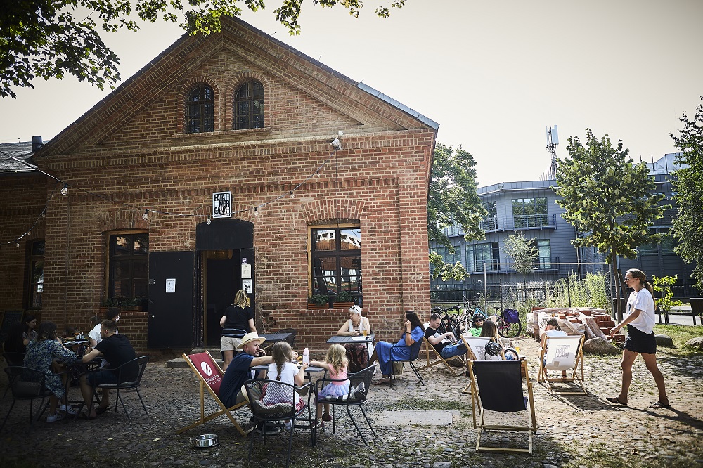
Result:
<instances>
[{"instance_id":1,"label":"dark ground-floor window just left of the black door panel","mask_svg":"<svg viewBox=\"0 0 703 468\"><path fill-rule=\"evenodd\" d=\"M149 234L110 235L108 299L136 301L148 297Z\"/></svg>"}]
</instances>

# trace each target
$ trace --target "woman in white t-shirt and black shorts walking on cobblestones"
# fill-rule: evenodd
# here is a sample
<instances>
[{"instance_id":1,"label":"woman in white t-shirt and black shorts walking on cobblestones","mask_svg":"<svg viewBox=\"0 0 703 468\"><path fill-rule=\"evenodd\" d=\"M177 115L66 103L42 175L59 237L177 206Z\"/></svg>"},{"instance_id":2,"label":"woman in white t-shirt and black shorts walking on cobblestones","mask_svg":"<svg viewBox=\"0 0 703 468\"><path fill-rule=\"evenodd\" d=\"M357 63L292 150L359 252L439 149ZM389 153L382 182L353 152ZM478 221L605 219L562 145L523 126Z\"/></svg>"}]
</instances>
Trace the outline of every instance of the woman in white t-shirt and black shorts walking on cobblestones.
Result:
<instances>
[{"instance_id":1,"label":"woman in white t-shirt and black shorts walking on cobblestones","mask_svg":"<svg viewBox=\"0 0 703 468\"><path fill-rule=\"evenodd\" d=\"M669 398L666 396L664 376L657 367L657 341L654 339L654 292L652 285L646 281L645 273L632 268L625 273L625 282L633 292L627 300L628 315L610 330L614 336L622 327L627 325L625 349L622 352L622 388L618 396L606 398L611 403L627 404L627 392L632 382L632 365L638 354L642 355L647 370L652 373L654 382L659 390L659 400L650 408L669 408Z\"/></svg>"}]
</instances>

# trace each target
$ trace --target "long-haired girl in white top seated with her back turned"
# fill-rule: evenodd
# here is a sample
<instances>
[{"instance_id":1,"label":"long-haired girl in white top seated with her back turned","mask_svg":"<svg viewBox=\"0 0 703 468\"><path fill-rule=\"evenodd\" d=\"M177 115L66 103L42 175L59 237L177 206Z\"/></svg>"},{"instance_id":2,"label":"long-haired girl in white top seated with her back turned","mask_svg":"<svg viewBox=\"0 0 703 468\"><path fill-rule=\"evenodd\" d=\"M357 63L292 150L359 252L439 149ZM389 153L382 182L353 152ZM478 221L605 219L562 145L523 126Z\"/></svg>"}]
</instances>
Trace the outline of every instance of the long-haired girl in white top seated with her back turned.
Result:
<instances>
[{"instance_id":1,"label":"long-haired girl in white top seated with her back turned","mask_svg":"<svg viewBox=\"0 0 703 468\"><path fill-rule=\"evenodd\" d=\"M301 368L291 361L294 359L293 350L287 342L278 342L271 348L271 357L273 363L269 364L269 380L276 380L285 384L301 386L305 382L305 369L309 364L303 363ZM299 410L305 402L297 394L293 392L292 396L288 394L288 387L285 391L271 391L273 387L267 387L266 394L262 398L262 403L266 405L274 405L276 403L292 403L295 404L295 409ZM285 421L285 429L291 429L290 420Z\"/></svg>"}]
</instances>

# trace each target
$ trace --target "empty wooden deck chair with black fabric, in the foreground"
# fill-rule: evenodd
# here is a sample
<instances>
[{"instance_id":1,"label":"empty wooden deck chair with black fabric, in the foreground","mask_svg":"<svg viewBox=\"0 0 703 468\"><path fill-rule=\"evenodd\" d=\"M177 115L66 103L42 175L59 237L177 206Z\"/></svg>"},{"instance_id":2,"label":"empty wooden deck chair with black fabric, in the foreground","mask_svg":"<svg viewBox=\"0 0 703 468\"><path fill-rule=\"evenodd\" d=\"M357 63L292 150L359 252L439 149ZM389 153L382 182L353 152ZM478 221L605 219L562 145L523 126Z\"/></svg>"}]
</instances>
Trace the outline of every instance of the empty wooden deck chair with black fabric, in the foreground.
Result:
<instances>
[{"instance_id":1,"label":"empty wooden deck chair with black fabric, in the foreground","mask_svg":"<svg viewBox=\"0 0 703 468\"><path fill-rule=\"evenodd\" d=\"M537 431L537 422L532 384L525 361L477 360L469 366L469 375L472 382L474 428L477 429L476 451L520 452L531 455L532 434ZM525 413L515 414L517 412ZM527 432L528 447L504 448L503 441L500 442L500 447L482 446L481 436L485 431Z\"/></svg>"}]
</instances>

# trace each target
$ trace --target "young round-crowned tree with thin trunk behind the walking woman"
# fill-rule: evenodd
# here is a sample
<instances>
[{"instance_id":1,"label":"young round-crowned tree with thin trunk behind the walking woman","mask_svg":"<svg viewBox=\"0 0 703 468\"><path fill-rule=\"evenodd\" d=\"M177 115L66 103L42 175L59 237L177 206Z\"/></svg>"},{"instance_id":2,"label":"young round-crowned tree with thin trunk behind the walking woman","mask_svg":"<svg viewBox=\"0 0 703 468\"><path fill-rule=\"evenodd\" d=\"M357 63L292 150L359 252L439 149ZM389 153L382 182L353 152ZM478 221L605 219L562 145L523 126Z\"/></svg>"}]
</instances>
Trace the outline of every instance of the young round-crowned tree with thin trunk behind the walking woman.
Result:
<instances>
[{"instance_id":1,"label":"young round-crowned tree with thin trunk behind the walking woman","mask_svg":"<svg viewBox=\"0 0 703 468\"><path fill-rule=\"evenodd\" d=\"M567 150L569 157L559 161L553 190L561 197L557 204L566 210L562 217L583 233L572 244L597 247L606 254L617 273L616 290L619 286L624 291L617 257L633 259L638 246L661 240L649 227L667 208L658 204L664 195L652 193L655 186L647 164L633 164L622 141L613 148L609 136L598 140L586 129L586 145L576 136L569 138ZM620 301L616 303L621 320Z\"/></svg>"}]
</instances>

